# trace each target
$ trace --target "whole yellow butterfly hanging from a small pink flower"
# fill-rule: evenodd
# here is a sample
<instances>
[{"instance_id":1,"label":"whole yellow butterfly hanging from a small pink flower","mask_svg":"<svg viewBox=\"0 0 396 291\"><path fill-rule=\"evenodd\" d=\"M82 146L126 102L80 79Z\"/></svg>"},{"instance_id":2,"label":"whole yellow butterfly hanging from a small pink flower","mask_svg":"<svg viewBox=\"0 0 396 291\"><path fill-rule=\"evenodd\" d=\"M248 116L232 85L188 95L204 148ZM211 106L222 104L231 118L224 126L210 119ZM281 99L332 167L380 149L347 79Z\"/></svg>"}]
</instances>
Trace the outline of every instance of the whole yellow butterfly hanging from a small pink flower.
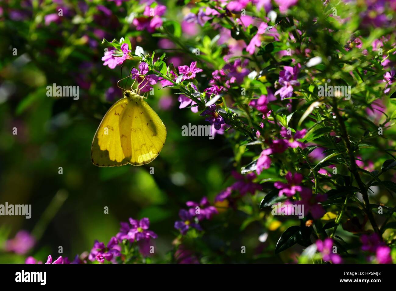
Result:
<instances>
[{"instance_id":1,"label":"whole yellow butterfly hanging from a small pink flower","mask_svg":"<svg viewBox=\"0 0 396 291\"><path fill-rule=\"evenodd\" d=\"M160 154L165 144L166 128L144 98L125 90L124 98L106 112L92 141L94 165L144 165Z\"/></svg>"}]
</instances>

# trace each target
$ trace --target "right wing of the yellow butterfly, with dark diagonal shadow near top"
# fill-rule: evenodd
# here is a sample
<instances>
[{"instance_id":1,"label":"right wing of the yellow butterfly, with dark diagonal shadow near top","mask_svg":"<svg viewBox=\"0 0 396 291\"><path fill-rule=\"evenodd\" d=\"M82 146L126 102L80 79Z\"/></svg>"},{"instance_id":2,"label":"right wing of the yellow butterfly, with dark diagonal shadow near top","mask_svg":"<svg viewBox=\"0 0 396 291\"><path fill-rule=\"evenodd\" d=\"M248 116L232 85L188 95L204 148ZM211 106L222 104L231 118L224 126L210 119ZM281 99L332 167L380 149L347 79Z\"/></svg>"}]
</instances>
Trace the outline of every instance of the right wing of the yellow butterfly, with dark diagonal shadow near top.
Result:
<instances>
[{"instance_id":1,"label":"right wing of the yellow butterfly, with dark diagonal shadow near top","mask_svg":"<svg viewBox=\"0 0 396 291\"><path fill-rule=\"evenodd\" d=\"M128 114L127 114L128 112ZM122 132L129 129L130 137L122 139L124 154L131 165L144 165L160 154L166 139L166 127L159 116L141 98L134 99L125 110L126 117L133 116L131 123L123 122ZM125 117L125 118L126 118ZM127 119L127 118L126 118Z\"/></svg>"}]
</instances>

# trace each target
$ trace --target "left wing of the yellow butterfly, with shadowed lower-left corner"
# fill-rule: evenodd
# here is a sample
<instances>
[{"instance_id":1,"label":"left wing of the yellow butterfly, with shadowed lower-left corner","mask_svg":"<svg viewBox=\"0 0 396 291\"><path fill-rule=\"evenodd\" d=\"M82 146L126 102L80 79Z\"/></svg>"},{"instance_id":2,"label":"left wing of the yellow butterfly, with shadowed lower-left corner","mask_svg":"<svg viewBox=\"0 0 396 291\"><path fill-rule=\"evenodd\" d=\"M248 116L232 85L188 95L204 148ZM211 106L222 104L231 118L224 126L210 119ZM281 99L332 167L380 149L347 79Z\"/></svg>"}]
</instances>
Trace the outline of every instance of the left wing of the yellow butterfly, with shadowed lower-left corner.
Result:
<instances>
[{"instance_id":1,"label":"left wing of the yellow butterfly, with shadowed lower-left corner","mask_svg":"<svg viewBox=\"0 0 396 291\"><path fill-rule=\"evenodd\" d=\"M114 167L128 164L129 157L121 146L120 117L128 105L129 99L118 100L103 117L91 146L91 160L99 167Z\"/></svg>"}]
</instances>

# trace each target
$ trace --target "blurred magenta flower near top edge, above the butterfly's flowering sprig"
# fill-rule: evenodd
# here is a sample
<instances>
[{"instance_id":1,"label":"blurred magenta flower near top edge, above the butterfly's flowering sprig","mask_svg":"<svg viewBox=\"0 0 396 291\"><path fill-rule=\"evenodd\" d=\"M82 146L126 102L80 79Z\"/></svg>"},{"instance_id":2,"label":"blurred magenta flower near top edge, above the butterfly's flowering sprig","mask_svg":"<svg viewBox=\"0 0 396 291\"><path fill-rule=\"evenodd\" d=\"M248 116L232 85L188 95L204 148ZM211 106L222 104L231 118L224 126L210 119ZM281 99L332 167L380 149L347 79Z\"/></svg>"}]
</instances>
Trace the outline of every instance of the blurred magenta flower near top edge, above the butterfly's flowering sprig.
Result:
<instances>
[{"instance_id":1,"label":"blurred magenta flower near top edge, above the butterfly's flowering sprig","mask_svg":"<svg viewBox=\"0 0 396 291\"><path fill-rule=\"evenodd\" d=\"M166 6L157 5L154 8L146 6L143 12L143 17L136 17L133 19L132 23L136 26L136 30L146 29L148 32L152 33L157 28L161 27L162 19L161 16L165 13Z\"/></svg>"}]
</instances>

